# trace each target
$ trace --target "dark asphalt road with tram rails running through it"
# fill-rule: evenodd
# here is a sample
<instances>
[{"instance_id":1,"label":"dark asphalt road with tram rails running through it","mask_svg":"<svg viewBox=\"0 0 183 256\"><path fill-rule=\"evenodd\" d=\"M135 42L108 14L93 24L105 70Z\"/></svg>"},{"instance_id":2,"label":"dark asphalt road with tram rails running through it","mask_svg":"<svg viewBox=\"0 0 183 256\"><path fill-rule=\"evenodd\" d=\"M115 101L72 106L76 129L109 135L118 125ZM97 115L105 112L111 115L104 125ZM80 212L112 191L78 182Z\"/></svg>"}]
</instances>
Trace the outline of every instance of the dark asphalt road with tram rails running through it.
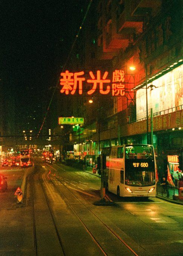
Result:
<instances>
[{"instance_id":1,"label":"dark asphalt road with tram rails running through it","mask_svg":"<svg viewBox=\"0 0 183 256\"><path fill-rule=\"evenodd\" d=\"M14 190L24 169L15 169L1 170L8 192L0 193L0 255L182 254L182 205L108 193L115 204L96 206L97 176L40 160L19 205Z\"/></svg>"}]
</instances>

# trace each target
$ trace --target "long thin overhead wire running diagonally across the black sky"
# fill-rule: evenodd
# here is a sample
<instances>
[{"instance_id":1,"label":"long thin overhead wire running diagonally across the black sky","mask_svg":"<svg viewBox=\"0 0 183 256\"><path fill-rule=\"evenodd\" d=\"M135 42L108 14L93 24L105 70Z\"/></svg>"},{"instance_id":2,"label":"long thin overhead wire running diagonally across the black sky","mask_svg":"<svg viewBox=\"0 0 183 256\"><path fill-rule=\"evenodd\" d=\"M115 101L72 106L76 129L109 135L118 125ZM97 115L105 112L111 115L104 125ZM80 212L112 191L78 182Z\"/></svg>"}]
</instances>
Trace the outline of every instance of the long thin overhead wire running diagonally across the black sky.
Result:
<instances>
[{"instance_id":1,"label":"long thin overhead wire running diagonally across the black sky","mask_svg":"<svg viewBox=\"0 0 183 256\"><path fill-rule=\"evenodd\" d=\"M87 14L88 14L88 11L89 11L89 9L90 9L90 6L91 6L91 3L92 3L92 2L93 2L93 0L90 0L90 2L88 3L88 6L87 6L87 9L86 9L84 18L82 19L82 23L81 23L81 25L79 26L78 33L76 34L75 40L74 40L73 43L72 43L72 46L71 46L69 55L68 55L68 57L67 57L67 60L66 60L66 62L65 62L65 64L64 64L63 69L62 69L61 72L63 72L63 70L65 69L65 67L66 67L66 65L67 65L67 62L69 61L70 55L71 55L71 53L72 53L72 51L73 51L73 48L74 48L75 43L76 43L76 40L77 40L78 37L79 37L79 33L80 33L81 29L82 29L82 26L84 25L86 16L87 16ZM53 90L53 94L52 94L52 97L51 97L51 99L50 99L49 105L48 105L48 107L47 107L46 114L45 114L45 116L44 116L44 118L43 118L43 123L41 124L40 130L39 130L39 132L38 132L38 134L37 134L37 138L38 138L38 136L40 135L41 130L43 129L43 126L44 126L44 123L45 123L45 121L46 121L46 117L47 117L47 114L48 114L48 112L49 112L50 105L51 105L51 103L52 103L53 96L54 96L55 91L56 91L56 89L57 89L57 87L58 87L59 81L60 81L60 76L59 76L58 81L57 81L57 83L56 83L56 86L55 86L55 88L54 88L54 90Z\"/></svg>"}]
</instances>

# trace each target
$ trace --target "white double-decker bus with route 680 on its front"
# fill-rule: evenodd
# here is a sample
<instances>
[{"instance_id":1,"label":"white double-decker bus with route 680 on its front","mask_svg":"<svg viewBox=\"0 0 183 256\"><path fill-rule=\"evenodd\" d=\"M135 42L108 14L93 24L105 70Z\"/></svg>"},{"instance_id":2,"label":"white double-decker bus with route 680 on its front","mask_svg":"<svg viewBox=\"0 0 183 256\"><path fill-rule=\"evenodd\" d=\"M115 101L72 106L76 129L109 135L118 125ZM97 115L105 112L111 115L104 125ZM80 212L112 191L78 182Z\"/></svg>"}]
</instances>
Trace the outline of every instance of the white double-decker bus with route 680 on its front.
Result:
<instances>
[{"instance_id":1,"label":"white double-decker bus with route 680 on its front","mask_svg":"<svg viewBox=\"0 0 183 256\"><path fill-rule=\"evenodd\" d=\"M117 196L156 196L153 145L128 144L102 149L102 182Z\"/></svg>"}]
</instances>

